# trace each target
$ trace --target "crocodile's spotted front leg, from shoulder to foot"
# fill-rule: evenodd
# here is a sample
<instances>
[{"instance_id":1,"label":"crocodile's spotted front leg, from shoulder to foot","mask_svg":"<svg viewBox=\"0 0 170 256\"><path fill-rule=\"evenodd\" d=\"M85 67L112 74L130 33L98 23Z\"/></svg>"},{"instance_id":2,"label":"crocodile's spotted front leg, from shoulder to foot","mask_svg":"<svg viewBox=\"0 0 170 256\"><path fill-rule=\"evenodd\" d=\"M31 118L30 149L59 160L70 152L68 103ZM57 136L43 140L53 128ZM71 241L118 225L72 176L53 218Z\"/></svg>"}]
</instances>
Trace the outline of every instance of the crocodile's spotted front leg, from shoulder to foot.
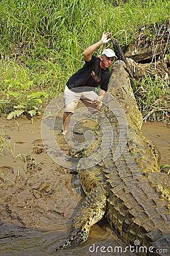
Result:
<instances>
[{"instance_id":1,"label":"crocodile's spotted front leg, from shoulder to foot","mask_svg":"<svg viewBox=\"0 0 170 256\"><path fill-rule=\"evenodd\" d=\"M56 251L85 242L90 227L101 220L105 213L108 185L101 171L94 167L79 171L79 175L87 196L73 218L69 238L63 245L57 247Z\"/></svg>"}]
</instances>

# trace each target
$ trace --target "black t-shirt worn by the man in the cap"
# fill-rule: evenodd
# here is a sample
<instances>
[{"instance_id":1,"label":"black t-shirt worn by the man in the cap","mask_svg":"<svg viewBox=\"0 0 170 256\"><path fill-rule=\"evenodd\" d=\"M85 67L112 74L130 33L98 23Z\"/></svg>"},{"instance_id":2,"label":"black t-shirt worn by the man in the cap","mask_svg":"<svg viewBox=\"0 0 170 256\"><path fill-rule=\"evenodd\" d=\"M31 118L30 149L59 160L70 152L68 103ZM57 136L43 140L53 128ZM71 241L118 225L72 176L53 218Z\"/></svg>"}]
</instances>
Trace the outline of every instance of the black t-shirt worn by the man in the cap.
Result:
<instances>
[{"instance_id":1,"label":"black t-shirt worn by the man in the cap","mask_svg":"<svg viewBox=\"0 0 170 256\"><path fill-rule=\"evenodd\" d=\"M79 71L74 73L74 75L70 77L69 81L67 81L67 87L69 89L78 89L78 87L86 86L84 90L88 90L88 87L95 88L100 86L100 89L107 92L109 78L111 77L111 71L109 71L109 68L101 68L100 59L94 55L92 55L89 62L85 62L86 64L84 64ZM76 89L73 90L76 91ZM89 90L92 89L89 88Z\"/></svg>"}]
</instances>

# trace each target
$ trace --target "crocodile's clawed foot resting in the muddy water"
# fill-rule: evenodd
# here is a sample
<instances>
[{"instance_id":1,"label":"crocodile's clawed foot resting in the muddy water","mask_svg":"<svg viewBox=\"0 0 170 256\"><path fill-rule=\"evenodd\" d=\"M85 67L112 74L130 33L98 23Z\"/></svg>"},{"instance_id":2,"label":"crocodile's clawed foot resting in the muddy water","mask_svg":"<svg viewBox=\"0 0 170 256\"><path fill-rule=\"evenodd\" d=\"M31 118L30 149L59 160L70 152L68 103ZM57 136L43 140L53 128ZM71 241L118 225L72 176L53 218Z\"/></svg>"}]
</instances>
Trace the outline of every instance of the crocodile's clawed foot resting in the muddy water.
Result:
<instances>
[{"instance_id":1,"label":"crocodile's clawed foot resting in the muddy water","mask_svg":"<svg viewBox=\"0 0 170 256\"><path fill-rule=\"evenodd\" d=\"M86 242L88 239L88 232L80 230L79 232L74 233L63 245L56 247L55 251L59 249L64 249L65 247L71 245L80 245L80 243Z\"/></svg>"}]
</instances>

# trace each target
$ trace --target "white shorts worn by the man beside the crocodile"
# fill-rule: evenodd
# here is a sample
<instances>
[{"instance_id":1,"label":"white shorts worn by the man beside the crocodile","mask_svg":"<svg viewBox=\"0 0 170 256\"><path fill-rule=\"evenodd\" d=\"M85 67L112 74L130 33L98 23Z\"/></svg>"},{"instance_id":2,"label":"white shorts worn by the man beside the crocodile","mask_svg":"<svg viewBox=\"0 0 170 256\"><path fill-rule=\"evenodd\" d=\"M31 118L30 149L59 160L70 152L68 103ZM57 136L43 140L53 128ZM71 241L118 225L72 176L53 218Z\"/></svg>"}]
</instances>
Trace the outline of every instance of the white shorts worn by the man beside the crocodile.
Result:
<instances>
[{"instance_id":1,"label":"white shorts worn by the man beside the crocodile","mask_svg":"<svg viewBox=\"0 0 170 256\"><path fill-rule=\"evenodd\" d=\"M78 105L79 100L83 102L87 108L94 108L97 110L100 110L102 103L100 102L99 105L93 106L91 105L91 102L94 101L98 95L91 90L90 92L73 92L70 90L67 85L65 88L65 96L63 98L64 100L64 106L65 106L65 112L71 112L74 113L74 109Z\"/></svg>"}]
</instances>

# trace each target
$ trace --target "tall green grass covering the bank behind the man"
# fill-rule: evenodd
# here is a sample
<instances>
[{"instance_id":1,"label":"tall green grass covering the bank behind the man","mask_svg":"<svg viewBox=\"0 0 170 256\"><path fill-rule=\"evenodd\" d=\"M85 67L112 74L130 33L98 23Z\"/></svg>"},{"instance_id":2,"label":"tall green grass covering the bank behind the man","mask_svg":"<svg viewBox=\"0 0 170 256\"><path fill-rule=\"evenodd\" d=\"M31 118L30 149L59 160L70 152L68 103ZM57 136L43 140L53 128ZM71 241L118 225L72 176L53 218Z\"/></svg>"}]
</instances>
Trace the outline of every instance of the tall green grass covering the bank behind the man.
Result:
<instances>
[{"instance_id":1,"label":"tall green grass covering the bank behind the man","mask_svg":"<svg viewBox=\"0 0 170 256\"><path fill-rule=\"evenodd\" d=\"M147 27L168 20L169 9L169 0L2 0L1 112L12 112L8 118L35 115L47 96L63 91L83 65L83 49L103 31L110 31L121 47L128 46L143 26L154 37L156 31Z\"/></svg>"}]
</instances>

